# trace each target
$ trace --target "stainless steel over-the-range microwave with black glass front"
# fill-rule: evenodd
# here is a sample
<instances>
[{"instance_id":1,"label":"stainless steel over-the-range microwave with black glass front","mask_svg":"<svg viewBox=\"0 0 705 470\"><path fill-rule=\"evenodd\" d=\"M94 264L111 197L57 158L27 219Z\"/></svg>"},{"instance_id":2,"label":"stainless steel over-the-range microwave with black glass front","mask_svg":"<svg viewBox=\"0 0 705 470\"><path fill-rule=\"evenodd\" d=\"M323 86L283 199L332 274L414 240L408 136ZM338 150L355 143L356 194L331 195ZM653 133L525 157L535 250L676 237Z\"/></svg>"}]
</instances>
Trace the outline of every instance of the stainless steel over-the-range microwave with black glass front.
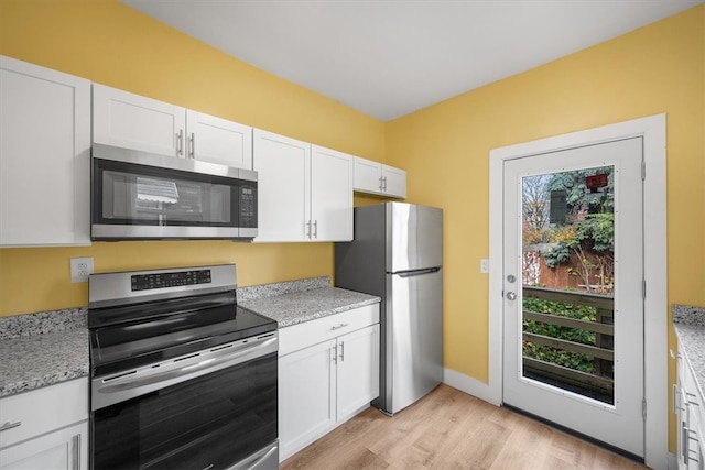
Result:
<instances>
[{"instance_id":1,"label":"stainless steel over-the-range microwave with black glass front","mask_svg":"<svg viewBox=\"0 0 705 470\"><path fill-rule=\"evenodd\" d=\"M257 172L94 144L91 240L257 237Z\"/></svg>"}]
</instances>

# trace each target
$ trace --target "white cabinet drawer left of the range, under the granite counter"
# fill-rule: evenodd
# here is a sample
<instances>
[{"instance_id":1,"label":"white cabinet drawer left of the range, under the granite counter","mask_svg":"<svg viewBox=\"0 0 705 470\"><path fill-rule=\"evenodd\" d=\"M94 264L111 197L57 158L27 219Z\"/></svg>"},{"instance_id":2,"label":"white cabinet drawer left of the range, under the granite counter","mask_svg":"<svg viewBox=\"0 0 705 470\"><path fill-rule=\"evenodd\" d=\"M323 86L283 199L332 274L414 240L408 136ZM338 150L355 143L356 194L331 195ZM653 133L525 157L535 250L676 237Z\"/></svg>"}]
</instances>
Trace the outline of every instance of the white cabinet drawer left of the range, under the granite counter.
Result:
<instances>
[{"instance_id":1,"label":"white cabinet drawer left of the range, under the granite counter","mask_svg":"<svg viewBox=\"0 0 705 470\"><path fill-rule=\"evenodd\" d=\"M0 400L0 448L88 419L88 378Z\"/></svg>"}]
</instances>

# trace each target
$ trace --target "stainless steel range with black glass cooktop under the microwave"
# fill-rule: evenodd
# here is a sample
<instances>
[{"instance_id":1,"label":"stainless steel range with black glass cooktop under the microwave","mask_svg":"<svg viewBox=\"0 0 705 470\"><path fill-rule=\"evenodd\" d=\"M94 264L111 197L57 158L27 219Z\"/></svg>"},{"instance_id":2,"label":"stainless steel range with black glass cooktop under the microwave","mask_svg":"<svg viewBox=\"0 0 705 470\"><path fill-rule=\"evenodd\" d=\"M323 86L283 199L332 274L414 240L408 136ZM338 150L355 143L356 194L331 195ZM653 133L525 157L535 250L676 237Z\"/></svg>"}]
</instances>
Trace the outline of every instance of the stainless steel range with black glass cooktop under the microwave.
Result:
<instances>
[{"instance_id":1,"label":"stainless steel range with black glass cooktop under the microwave","mask_svg":"<svg viewBox=\"0 0 705 470\"><path fill-rule=\"evenodd\" d=\"M89 280L95 469L275 469L276 321L235 265Z\"/></svg>"}]
</instances>

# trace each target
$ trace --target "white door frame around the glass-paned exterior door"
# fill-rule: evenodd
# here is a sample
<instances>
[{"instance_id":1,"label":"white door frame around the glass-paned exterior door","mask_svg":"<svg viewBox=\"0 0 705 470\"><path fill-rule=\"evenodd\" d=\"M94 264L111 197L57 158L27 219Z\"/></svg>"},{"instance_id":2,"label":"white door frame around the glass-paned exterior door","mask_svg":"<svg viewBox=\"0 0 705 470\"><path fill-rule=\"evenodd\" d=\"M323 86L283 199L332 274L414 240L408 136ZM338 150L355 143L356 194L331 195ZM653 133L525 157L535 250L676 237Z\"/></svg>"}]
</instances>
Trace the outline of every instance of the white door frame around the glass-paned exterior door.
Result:
<instances>
[{"instance_id":1,"label":"white door frame around the glass-paned exterior door","mask_svg":"<svg viewBox=\"0 0 705 470\"><path fill-rule=\"evenodd\" d=\"M625 138L643 138L646 179L643 207L644 280L644 463L666 468L669 457L668 406L668 265L665 114L494 149L489 154L489 384L486 400L502 404L502 240L503 164L507 160L597 144ZM644 170L642 168L642 173ZM648 255L647 255L648 254Z\"/></svg>"}]
</instances>

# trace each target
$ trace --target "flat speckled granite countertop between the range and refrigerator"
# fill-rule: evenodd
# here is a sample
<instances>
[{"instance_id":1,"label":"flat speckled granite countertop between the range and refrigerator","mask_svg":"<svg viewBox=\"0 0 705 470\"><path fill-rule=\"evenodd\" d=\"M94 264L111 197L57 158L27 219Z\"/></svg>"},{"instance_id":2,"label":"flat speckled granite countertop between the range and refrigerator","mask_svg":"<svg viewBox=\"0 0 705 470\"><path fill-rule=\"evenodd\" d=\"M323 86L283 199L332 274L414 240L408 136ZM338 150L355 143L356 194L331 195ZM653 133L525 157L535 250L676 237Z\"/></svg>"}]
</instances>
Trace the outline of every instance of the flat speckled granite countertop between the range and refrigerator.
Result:
<instances>
[{"instance_id":1,"label":"flat speckled granite countertop between the range and refrigerator","mask_svg":"<svg viewBox=\"0 0 705 470\"><path fill-rule=\"evenodd\" d=\"M380 302L379 297L338 287L294 292L240 302L240 307L276 320L285 328Z\"/></svg>"}]
</instances>

